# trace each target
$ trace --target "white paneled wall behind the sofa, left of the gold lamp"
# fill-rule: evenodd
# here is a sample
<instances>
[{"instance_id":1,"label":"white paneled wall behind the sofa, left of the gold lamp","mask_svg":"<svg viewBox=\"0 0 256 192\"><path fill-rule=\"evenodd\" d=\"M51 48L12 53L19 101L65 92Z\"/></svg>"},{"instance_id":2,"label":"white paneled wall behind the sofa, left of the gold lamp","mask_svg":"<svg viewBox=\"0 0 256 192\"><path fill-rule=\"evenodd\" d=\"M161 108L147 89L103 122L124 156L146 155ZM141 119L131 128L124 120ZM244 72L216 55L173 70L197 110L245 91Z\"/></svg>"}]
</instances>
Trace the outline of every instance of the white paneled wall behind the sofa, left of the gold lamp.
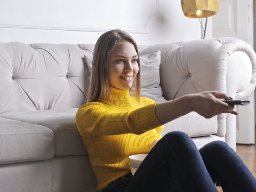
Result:
<instances>
[{"instance_id":1,"label":"white paneled wall behind the sofa, left of the gold lamp","mask_svg":"<svg viewBox=\"0 0 256 192\"><path fill-rule=\"evenodd\" d=\"M156 3L164 24L148 20ZM0 0L0 42L95 43L115 28L138 44L201 38L199 20L185 17L177 0Z\"/></svg>"}]
</instances>

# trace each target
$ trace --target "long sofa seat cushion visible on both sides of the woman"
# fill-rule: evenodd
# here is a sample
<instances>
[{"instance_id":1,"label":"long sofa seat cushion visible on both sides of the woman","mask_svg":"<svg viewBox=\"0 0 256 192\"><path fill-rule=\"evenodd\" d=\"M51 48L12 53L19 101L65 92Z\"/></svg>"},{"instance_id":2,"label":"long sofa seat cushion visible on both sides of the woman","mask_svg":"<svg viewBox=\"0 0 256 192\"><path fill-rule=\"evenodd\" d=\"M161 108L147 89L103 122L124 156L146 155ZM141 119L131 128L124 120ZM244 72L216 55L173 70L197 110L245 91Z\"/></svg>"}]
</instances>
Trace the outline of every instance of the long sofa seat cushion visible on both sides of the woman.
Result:
<instances>
[{"instance_id":1,"label":"long sofa seat cushion visible on both sides of the woman","mask_svg":"<svg viewBox=\"0 0 256 192\"><path fill-rule=\"evenodd\" d=\"M24 111L0 114L7 119L48 127L54 132L55 155L88 155L78 132L75 115L78 108ZM164 125L162 135L180 130L190 137L213 135L217 132L217 118L205 119L196 112L175 119Z\"/></svg>"}]
</instances>

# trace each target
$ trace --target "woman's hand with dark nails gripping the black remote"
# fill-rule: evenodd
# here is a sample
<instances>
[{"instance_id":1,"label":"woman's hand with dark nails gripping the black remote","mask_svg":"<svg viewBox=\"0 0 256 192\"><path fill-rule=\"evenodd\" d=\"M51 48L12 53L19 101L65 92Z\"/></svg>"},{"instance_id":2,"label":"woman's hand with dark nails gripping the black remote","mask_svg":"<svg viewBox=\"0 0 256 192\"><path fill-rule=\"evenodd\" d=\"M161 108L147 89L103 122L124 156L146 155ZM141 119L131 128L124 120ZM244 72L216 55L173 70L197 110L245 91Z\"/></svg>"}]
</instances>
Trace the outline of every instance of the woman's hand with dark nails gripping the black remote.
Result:
<instances>
[{"instance_id":1,"label":"woman's hand with dark nails gripping the black remote","mask_svg":"<svg viewBox=\"0 0 256 192\"><path fill-rule=\"evenodd\" d=\"M221 113L232 113L237 115L234 106L219 100L232 100L225 93L217 91L206 91L197 94L192 94L191 109L205 118L211 118Z\"/></svg>"}]
</instances>

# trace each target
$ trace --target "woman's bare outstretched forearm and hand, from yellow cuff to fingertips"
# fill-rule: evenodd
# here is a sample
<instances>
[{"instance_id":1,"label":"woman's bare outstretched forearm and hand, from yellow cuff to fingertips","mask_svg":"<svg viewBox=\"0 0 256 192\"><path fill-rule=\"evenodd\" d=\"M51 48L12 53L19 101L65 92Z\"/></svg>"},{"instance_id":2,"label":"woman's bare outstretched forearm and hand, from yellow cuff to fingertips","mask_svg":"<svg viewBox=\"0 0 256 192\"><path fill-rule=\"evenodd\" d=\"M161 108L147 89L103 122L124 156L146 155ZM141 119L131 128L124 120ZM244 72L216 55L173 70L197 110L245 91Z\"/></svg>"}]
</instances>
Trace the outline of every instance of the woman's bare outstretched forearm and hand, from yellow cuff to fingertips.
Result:
<instances>
[{"instance_id":1,"label":"woman's bare outstretched forearm and hand, from yellow cuff to fingertips","mask_svg":"<svg viewBox=\"0 0 256 192\"><path fill-rule=\"evenodd\" d=\"M195 111L205 118L211 118L220 113L237 115L234 106L228 105L219 99L230 100L231 98L225 93L206 91L185 95L164 103L158 103L155 107L156 118L165 124L191 111Z\"/></svg>"}]
</instances>

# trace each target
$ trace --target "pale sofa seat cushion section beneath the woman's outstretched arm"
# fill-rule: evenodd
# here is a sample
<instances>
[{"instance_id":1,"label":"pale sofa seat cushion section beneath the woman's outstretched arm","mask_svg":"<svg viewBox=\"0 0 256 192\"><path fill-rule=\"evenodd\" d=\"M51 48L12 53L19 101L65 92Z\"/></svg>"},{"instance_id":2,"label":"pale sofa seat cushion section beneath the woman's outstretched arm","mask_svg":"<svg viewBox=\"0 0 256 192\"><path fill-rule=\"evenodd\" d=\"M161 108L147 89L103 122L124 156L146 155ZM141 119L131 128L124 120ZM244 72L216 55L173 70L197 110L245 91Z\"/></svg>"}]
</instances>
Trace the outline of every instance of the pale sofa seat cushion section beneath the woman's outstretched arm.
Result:
<instances>
[{"instance_id":1,"label":"pale sofa seat cushion section beneath the woman's outstretched arm","mask_svg":"<svg viewBox=\"0 0 256 192\"><path fill-rule=\"evenodd\" d=\"M176 130L187 133L189 137L213 135L218 130L217 116L206 119L196 112L191 112L166 123L161 133L164 136Z\"/></svg>"}]
</instances>

